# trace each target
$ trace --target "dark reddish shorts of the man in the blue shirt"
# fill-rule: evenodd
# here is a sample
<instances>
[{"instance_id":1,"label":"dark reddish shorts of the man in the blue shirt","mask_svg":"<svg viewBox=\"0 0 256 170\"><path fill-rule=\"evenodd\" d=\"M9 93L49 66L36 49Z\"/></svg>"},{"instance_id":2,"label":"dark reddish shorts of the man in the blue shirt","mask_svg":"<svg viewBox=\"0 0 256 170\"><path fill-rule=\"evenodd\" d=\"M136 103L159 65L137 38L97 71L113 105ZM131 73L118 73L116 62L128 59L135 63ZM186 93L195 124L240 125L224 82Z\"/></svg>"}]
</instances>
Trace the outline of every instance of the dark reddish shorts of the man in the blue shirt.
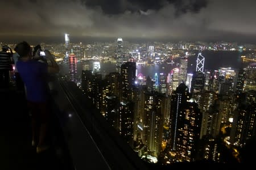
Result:
<instances>
[{"instance_id":1,"label":"dark reddish shorts of the man in the blue shirt","mask_svg":"<svg viewBox=\"0 0 256 170\"><path fill-rule=\"evenodd\" d=\"M28 109L31 111L32 118L38 119L42 124L47 123L49 119L49 107L46 102L27 102Z\"/></svg>"}]
</instances>

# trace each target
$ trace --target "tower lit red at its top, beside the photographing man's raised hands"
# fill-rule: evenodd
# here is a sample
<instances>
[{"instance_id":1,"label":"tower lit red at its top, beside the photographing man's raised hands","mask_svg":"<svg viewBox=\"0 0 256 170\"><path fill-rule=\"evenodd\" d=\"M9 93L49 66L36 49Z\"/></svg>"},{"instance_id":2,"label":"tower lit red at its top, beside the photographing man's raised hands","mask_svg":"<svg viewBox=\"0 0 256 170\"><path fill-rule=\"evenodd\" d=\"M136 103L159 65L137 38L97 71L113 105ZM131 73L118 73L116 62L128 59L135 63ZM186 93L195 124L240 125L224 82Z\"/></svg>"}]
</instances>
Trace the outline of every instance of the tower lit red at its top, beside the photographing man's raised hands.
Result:
<instances>
[{"instance_id":1,"label":"tower lit red at its top, beside the photographing man's raised hands","mask_svg":"<svg viewBox=\"0 0 256 170\"><path fill-rule=\"evenodd\" d=\"M69 80L77 83L77 58L75 54L69 55Z\"/></svg>"}]
</instances>

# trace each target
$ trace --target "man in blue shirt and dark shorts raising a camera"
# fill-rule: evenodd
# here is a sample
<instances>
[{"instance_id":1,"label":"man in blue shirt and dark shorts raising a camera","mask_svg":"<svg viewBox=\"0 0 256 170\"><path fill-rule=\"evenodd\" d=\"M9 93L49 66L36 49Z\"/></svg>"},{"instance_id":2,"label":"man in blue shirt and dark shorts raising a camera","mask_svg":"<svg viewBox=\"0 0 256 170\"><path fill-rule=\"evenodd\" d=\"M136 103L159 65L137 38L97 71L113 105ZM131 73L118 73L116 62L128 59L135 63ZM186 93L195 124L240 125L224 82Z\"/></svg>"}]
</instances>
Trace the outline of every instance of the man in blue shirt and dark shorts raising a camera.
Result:
<instances>
[{"instance_id":1,"label":"man in blue shirt and dark shorts raising a camera","mask_svg":"<svg viewBox=\"0 0 256 170\"><path fill-rule=\"evenodd\" d=\"M15 49L20 56L19 61L16 62L16 67L26 86L28 108L31 111L32 146L37 145L36 152L40 153L48 149L45 140L50 114L49 103L47 102L50 95L47 75L48 73L58 73L59 66L48 50L45 51L45 58L51 62L51 65L34 59L32 48L26 41L17 44ZM39 131L37 131L37 127L39 127ZM37 137L39 138L36 139Z\"/></svg>"}]
</instances>

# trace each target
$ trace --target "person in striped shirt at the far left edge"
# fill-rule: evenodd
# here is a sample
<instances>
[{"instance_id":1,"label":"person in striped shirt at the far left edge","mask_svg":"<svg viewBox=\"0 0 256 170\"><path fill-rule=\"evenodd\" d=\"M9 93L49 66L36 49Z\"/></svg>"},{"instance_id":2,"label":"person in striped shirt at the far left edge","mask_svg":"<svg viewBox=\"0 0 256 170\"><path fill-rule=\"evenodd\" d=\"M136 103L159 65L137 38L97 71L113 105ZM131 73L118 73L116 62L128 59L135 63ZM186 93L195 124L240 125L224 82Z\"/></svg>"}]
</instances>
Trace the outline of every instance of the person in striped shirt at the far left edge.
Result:
<instances>
[{"instance_id":1,"label":"person in striped shirt at the far left edge","mask_svg":"<svg viewBox=\"0 0 256 170\"><path fill-rule=\"evenodd\" d=\"M9 49L9 46L2 45L0 52L0 87L2 88L9 87L10 82L11 53L7 53Z\"/></svg>"}]
</instances>

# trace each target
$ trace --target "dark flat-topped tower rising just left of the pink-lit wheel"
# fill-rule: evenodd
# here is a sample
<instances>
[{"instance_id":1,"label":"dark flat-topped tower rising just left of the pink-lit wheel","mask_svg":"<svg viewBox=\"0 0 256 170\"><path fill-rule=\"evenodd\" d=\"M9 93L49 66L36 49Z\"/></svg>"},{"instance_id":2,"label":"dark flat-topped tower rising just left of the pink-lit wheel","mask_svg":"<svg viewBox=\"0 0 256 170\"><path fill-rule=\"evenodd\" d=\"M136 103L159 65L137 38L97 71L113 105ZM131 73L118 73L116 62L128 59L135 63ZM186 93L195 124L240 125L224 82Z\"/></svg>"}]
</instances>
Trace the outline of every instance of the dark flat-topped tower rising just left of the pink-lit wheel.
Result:
<instances>
[{"instance_id":1,"label":"dark flat-topped tower rising just left of the pink-lit wheel","mask_svg":"<svg viewBox=\"0 0 256 170\"><path fill-rule=\"evenodd\" d=\"M133 87L135 83L135 62L125 62L121 65L121 88L123 100L133 100Z\"/></svg>"}]
</instances>

